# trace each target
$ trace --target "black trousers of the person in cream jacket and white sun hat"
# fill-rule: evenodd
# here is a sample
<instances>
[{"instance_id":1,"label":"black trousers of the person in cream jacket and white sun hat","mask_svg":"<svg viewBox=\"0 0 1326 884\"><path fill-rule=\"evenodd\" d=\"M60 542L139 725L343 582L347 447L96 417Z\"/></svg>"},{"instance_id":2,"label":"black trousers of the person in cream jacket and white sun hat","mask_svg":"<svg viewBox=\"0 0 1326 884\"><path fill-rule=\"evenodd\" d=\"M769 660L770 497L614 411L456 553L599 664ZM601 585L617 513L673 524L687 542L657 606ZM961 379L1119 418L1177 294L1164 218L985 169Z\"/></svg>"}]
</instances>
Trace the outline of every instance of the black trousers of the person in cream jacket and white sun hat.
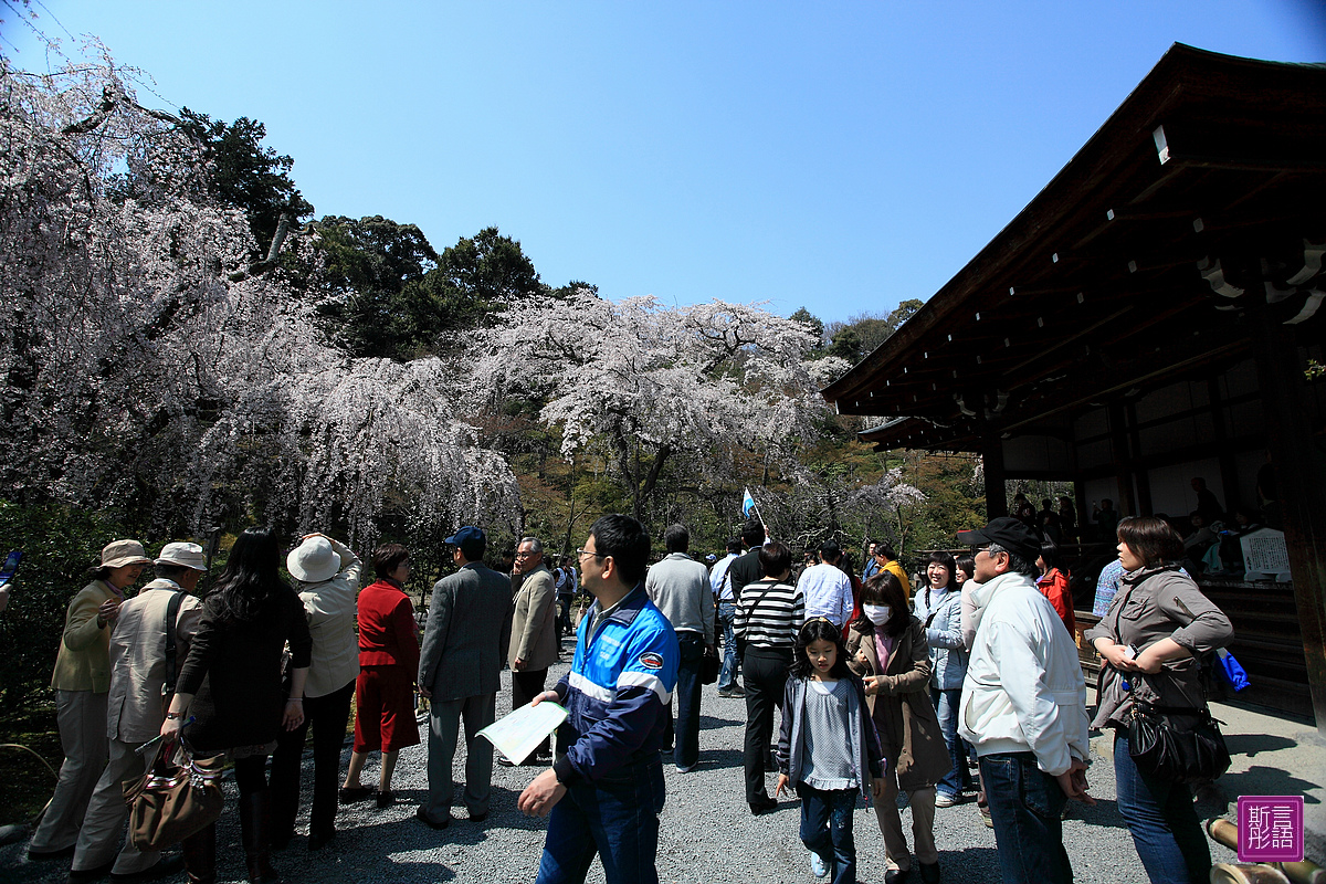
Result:
<instances>
[{"instance_id":1,"label":"black trousers of the person in cream jacket and white sun hat","mask_svg":"<svg viewBox=\"0 0 1326 884\"><path fill-rule=\"evenodd\" d=\"M272 754L272 831L280 839L294 832L300 810L300 757L313 728L313 807L309 834L326 835L335 828L337 787L341 785L341 749L350 721L354 681L321 697L304 698L304 724L282 730Z\"/></svg>"}]
</instances>

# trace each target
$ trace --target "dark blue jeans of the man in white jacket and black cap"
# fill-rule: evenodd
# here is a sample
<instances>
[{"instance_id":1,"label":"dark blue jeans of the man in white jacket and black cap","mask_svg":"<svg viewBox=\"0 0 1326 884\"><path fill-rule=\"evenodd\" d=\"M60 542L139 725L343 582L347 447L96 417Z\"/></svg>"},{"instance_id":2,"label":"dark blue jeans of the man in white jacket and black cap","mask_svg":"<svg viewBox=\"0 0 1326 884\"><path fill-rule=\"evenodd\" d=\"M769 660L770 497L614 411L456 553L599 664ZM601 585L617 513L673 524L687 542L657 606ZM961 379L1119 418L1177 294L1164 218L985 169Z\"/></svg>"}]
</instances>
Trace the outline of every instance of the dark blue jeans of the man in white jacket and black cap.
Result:
<instances>
[{"instance_id":1,"label":"dark blue jeans of the man in white jacket and black cap","mask_svg":"<svg viewBox=\"0 0 1326 884\"><path fill-rule=\"evenodd\" d=\"M1059 814L1067 795L1029 751L981 755L1004 884L1071 884Z\"/></svg>"}]
</instances>

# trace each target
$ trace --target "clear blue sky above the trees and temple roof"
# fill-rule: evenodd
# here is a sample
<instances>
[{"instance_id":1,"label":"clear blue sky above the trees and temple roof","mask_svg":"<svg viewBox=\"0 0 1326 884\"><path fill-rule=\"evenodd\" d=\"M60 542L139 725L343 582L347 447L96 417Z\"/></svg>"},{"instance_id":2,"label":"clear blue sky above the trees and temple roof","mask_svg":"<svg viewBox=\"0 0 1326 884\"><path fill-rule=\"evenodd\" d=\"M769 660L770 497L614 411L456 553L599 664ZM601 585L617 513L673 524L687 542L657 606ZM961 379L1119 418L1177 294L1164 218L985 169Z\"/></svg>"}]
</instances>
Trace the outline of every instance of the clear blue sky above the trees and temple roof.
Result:
<instances>
[{"instance_id":1,"label":"clear blue sky above the trees and temple roof","mask_svg":"<svg viewBox=\"0 0 1326 884\"><path fill-rule=\"evenodd\" d=\"M497 225L552 285L826 321L928 298L1172 42L1326 61L1319 0L30 8L150 73L146 106L261 121L320 216L439 250Z\"/></svg>"}]
</instances>

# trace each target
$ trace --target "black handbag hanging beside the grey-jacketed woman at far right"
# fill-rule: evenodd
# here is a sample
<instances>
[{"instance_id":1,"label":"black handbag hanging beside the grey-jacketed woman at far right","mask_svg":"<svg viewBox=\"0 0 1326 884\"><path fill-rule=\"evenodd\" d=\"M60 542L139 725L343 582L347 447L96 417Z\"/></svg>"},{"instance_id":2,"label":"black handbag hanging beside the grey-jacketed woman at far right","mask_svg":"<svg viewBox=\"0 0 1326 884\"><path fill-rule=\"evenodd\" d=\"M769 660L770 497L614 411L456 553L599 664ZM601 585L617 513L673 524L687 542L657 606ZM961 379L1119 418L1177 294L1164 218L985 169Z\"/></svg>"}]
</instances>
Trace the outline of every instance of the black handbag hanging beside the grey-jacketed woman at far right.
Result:
<instances>
[{"instance_id":1,"label":"black handbag hanging beside the grey-jacketed woman at far right","mask_svg":"<svg viewBox=\"0 0 1326 884\"><path fill-rule=\"evenodd\" d=\"M1192 783L1215 779L1229 769L1229 749L1207 709L1158 706L1132 693L1128 754L1156 779Z\"/></svg>"}]
</instances>

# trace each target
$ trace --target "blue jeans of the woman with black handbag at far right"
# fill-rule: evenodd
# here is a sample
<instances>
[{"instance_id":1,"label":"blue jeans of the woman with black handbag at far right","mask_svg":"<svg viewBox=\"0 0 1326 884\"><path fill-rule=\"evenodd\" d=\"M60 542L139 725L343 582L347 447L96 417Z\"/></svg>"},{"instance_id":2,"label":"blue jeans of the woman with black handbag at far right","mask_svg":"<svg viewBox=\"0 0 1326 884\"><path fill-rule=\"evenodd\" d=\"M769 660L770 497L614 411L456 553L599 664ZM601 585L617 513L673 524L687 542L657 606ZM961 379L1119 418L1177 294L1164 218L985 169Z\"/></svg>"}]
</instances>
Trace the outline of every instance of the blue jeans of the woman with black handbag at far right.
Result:
<instances>
[{"instance_id":1,"label":"blue jeans of the woman with black handbag at far right","mask_svg":"<svg viewBox=\"0 0 1326 884\"><path fill-rule=\"evenodd\" d=\"M1138 770L1128 737L1114 738L1114 778L1119 814L1152 881L1207 881L1211 848L1192 808L1187 783L1170 783Z\"/></svg>"}]
</instances>

